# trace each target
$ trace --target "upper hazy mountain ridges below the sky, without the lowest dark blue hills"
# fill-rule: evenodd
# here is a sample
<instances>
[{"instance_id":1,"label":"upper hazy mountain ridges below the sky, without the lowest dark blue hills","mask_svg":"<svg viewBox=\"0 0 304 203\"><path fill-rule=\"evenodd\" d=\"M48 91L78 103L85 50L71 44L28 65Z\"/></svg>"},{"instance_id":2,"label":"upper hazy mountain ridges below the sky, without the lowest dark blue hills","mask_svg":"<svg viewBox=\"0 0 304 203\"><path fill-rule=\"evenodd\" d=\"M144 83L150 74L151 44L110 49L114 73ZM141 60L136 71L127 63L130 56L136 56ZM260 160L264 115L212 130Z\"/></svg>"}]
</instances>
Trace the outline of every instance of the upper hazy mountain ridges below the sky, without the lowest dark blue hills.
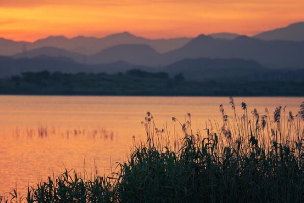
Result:
<instances>
[{"instance_id":1,"label":"upper hazy mountain ridges below the sky, without the lowest dark blue hills","mask_svg":"<svg viewBox=\"0 0 304 203\"><path fill-rule=\"evenodd\" d=\"M300 69L304 68L304 41L300 40L304 36L301 34L303 27L304 22L295 23L255 37L215 33L193 39L146 39L122 32L103 38L49 36L33 43L0 38L0 55L11 55L14 58L47 55L67 57L83 64L123 61L154 67L186 58L238 58L257 61L266 68Z\"/></svg>"}]
</instances>

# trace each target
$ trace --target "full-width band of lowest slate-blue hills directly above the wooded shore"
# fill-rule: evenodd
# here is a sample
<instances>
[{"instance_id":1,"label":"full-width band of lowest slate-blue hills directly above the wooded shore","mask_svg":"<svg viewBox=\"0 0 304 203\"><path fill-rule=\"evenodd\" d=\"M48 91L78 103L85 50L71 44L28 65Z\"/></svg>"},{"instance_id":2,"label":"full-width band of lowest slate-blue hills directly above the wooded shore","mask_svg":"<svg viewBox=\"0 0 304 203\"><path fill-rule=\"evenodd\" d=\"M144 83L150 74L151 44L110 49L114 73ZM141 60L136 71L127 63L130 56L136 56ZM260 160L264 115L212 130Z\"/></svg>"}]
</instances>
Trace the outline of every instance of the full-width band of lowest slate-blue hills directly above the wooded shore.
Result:
<instances>
[{"instance_id":1,"label":"full-width band of lowest slate-blue hills directly above the wooded shore","mask_svg":"<svg viewBox=\"0 0 304 203\"><path fill-rule=\"evenodd\" d=\"M0 78L23 72L62 73L125 73L129 70L140 73L166 72L171 77L182 73L186 80L195 81L299 81L304 80L304 69L270 70L256 61L243 59L183 59L165 67L133 65L123 61L102 64L81 64L66 57L37 56L33 58L12 58L0 56ZM140 71L139 71L140 70ZM156 74L158 75L158 74ZM163 74L159 74L160 77ZM180 80L180 79L177 79Z\"/></svg>"}]
</instances>

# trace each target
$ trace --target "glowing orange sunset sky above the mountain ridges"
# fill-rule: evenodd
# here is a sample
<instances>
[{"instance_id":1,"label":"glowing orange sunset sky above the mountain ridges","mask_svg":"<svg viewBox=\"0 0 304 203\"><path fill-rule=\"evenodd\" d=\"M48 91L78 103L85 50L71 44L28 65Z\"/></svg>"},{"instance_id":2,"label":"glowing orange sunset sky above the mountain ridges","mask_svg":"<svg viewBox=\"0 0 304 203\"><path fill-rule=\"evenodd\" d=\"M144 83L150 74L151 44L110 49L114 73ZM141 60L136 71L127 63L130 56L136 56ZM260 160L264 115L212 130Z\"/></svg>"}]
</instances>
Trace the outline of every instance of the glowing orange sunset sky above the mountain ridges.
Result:
<instances>
[{"instance_id":1,"label":"glowing orange sunset sky above the mountain ridges","mask_svg":"<svg viewBox=\"0 0 304 203\"><path fill-rule=\"evenodd\" d=\"M304 0L0 0L0 37L252 35L304 21L303 11Z\"/></svg>"}]
</instances>

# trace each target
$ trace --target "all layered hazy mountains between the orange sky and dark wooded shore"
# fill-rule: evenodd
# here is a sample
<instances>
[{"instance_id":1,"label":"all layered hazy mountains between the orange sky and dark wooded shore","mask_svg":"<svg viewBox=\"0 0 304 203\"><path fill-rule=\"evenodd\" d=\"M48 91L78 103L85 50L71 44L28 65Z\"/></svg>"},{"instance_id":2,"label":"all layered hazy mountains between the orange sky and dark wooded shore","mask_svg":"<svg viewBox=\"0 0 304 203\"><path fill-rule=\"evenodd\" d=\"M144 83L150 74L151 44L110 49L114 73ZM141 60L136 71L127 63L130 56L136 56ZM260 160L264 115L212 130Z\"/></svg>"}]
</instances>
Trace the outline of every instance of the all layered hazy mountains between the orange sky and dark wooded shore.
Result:
<instances>
[{"instance_id":1,"label":"all layered hazy mountains between the orange sky and dark wooded shore","mask_svg":"<svg viewBox=\"0 0 304 203\"><path fill-rule=\"evenodd\" d=\"M128 32L104 38L50 36L30 42L0 38L0 76L22 71L178 72L191 79L216 72L244 75L268 69L304 69L304 22L247 37L234 33L146 39ZM74 68L73 68L74 67ZM205 74L202 77L202 74Z\"/></svg>"}]
</instances>

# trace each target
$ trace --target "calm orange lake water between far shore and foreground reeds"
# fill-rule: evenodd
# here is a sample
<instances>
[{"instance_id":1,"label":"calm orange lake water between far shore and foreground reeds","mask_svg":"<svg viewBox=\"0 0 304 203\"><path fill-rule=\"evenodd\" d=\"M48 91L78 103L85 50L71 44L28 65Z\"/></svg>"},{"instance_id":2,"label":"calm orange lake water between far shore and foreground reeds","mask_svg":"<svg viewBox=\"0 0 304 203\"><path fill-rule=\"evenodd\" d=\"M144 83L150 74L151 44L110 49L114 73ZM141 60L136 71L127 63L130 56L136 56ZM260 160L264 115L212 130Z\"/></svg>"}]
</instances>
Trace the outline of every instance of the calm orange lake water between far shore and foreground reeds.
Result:
<instances>
[{"instance_id":1,"label":"calm orange lake water between far shore and foreground reeds","mask_svg":"<svg viewBox=\"0 0 304 203\"><path fill-rule=\"evenodd\" d=\"M287 105L294 114L304 100L286 97L236 97L251 111L273 112ZM219 105L230 113L227 97L85 97L85 96L0 96L0 194L12 188L44 179L65 168L98 167L108 173L111 164L127 158L135 139L145 138L143 126L147 111L159 128L171 117L183 120L192 114L194 129L205 128L205 121L221 122ZM93 170L93 169L92 169Z\"/></svg>"}]
</instances>

